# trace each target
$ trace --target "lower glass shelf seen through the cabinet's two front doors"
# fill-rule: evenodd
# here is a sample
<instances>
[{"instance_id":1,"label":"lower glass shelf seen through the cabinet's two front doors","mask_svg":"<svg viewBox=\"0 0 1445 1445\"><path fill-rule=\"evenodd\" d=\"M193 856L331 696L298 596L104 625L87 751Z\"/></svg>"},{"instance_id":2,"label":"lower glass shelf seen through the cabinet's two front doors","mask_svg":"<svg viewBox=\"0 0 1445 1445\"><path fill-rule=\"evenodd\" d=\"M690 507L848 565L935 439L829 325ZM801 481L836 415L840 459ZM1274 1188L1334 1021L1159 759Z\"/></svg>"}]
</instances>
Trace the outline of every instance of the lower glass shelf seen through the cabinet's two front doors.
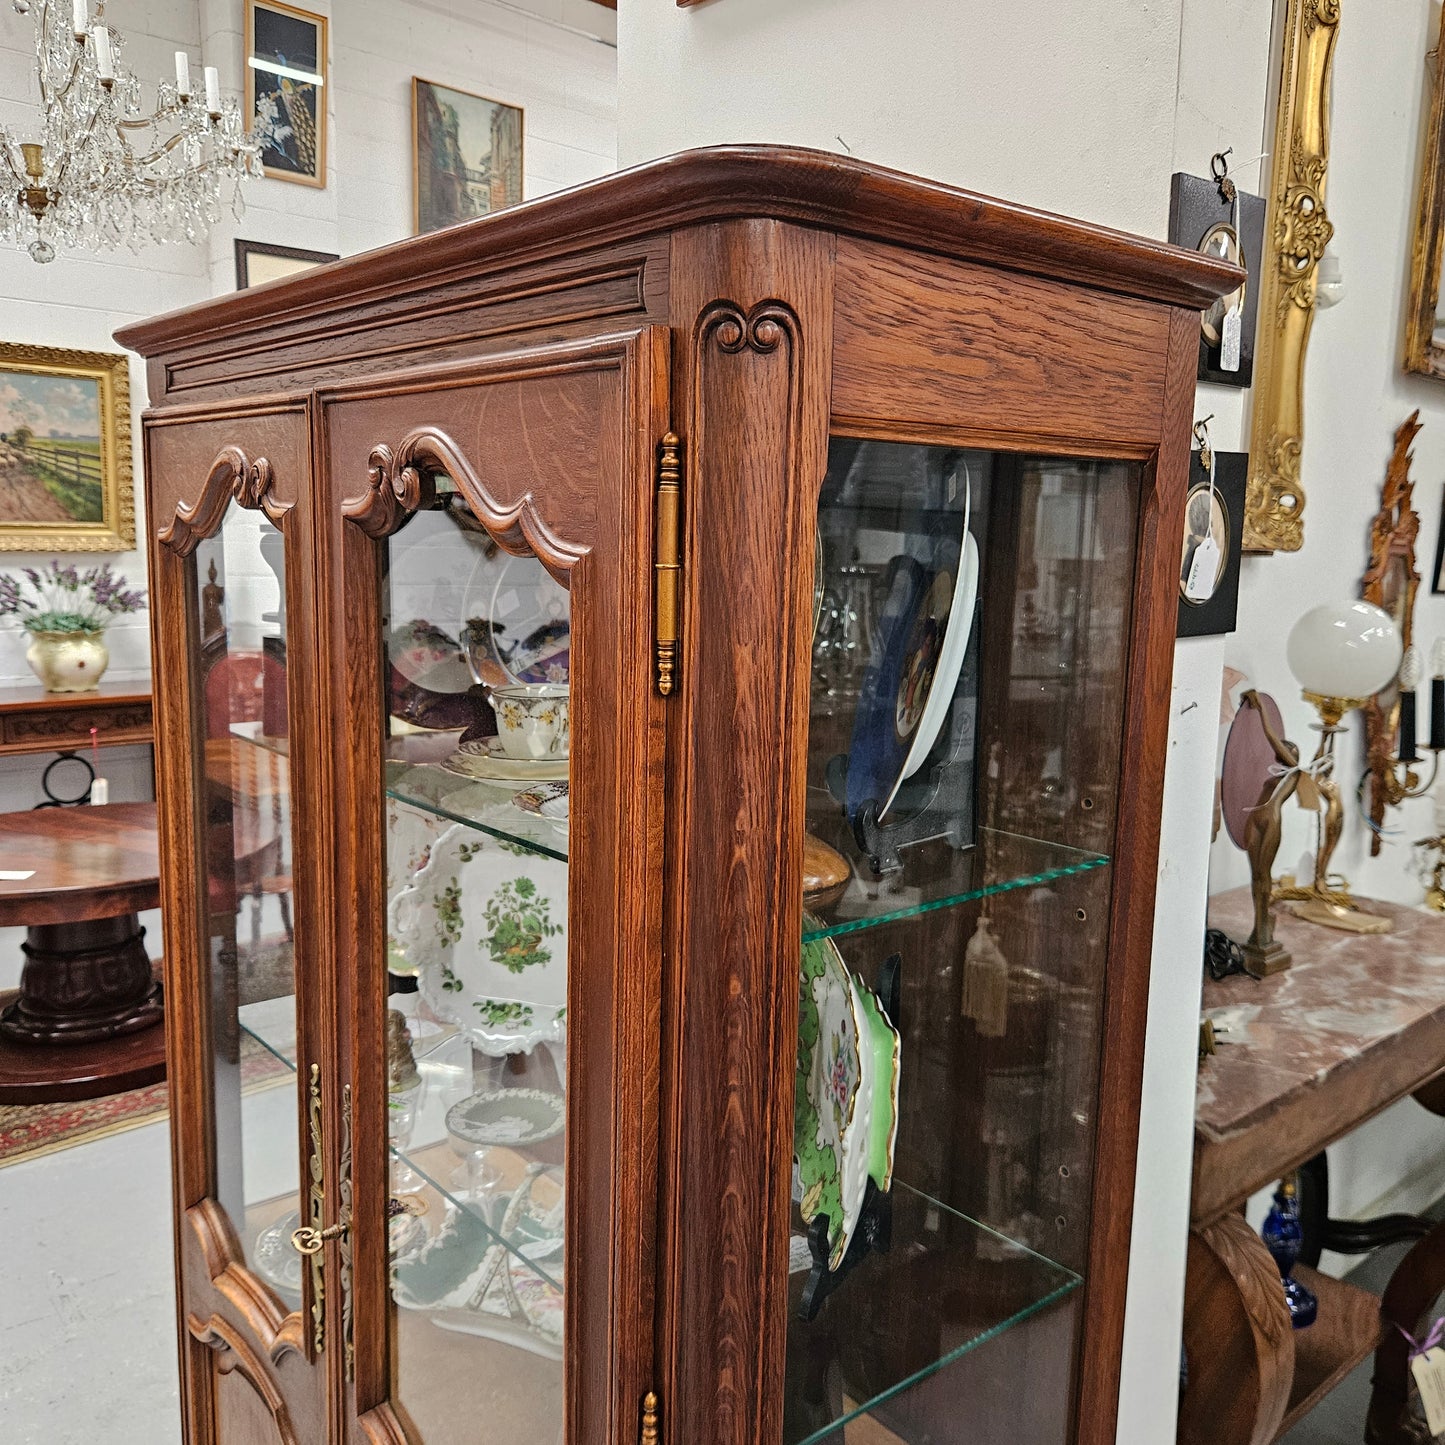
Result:
<instances>
[{"instance_id":1,"label":"lower glass shelf seen through the cabinet's two front doors","mask_svg":"<svg viewBox=\"0 0 1445 1445\"><path fill-rule=\"evenodd\" d=\"M288 994L279 998L266 998L260 1003L244 1004L237 1012L241 1029L266 1049L267 1053L280 1059L282 1064L295 1072L295 996ZM415 1025L415 1020L409 1022ZM500 1244L509 1254L522 1260L527 1269L546 1280L546 1283L562 1289L561 1277L555 1277L561 1274L556 1264L551 1261L539 1263L532 1256L519 1250L493 1228L490 1218L477 1201L464 1198L451 1183L444 1182L449 1173L462 1169L465 1163L464 1156L457 1153L448 1142L451 1136L447 1133L447 1110L474 1091L471 1087L471 1043L454 1029L441 1026L436 1033L413 1042L412 1053L416 1059L418 1072L422 1077L422 1104L412 1127L412 1139L405 1149L393 1143L392 1157L403 1168L409 1166L413 1169L425 1183L425 1189L413 1191L426 1199L428 1212L425 1218L435 1218L438 1208L465 1211L481 1224L488 1240L488 1247ZM539 1149L499 1146L499 1153L507 1156L513 1165L522 1168L533 1159L559 1165L562 1160L562 1137L558 1136L553 1140L548 1140ZM432 1233L435 1233L435 1227Z\"/></svg>"}]
</instances>

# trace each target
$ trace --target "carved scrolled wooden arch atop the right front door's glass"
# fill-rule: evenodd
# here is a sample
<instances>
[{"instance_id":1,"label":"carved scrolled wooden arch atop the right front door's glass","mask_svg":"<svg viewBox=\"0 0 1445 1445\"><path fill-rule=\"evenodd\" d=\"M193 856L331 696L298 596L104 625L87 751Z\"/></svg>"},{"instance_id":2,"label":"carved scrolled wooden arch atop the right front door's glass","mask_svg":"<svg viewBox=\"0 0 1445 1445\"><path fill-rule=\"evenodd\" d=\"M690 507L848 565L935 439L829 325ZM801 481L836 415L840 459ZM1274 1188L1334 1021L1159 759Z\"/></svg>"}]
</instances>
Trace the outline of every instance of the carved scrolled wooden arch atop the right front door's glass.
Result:
<instances>
[{"instance_id":1,"label":"carved scrolled wooden arch atop the right front door's glass","mask_svg":"<svg viewBox=\"0 0 1445 1445\"><path fill-rule=\"evenodd\" d=\"M543 520L530 491L503 506L477 474L461 447L436 426L418 426L399 447L371 448L367 490L341 504L341 514L368 538L400 530L436 496L435 471L445 471L477 520L507 552L532 553L564 585L588 548L564 542Z\"/></svg>"}]
</instances>

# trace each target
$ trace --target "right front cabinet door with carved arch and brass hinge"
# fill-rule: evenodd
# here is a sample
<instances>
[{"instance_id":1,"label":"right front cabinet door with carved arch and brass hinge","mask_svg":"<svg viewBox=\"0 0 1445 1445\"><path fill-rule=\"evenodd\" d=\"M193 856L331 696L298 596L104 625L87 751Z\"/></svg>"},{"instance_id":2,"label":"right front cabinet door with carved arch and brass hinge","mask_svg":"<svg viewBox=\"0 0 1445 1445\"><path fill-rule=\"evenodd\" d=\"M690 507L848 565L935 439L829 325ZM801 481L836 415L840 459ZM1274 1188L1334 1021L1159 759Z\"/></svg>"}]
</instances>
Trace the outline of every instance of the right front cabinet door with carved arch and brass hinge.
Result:
<instances>
[{"instance_id":1,"label":"right front cabinet door with carved arch and brass hinge","mask_svg":"<svg viewBox=\"0 0 1445 1445\"><path fill-rule=\"evenodd\" d=\"M358 1439L591 1445L655 1387L665 347L478 360L327 420ZM402 478L374 507L368 460Z\"/></svg>"}]
</instances>

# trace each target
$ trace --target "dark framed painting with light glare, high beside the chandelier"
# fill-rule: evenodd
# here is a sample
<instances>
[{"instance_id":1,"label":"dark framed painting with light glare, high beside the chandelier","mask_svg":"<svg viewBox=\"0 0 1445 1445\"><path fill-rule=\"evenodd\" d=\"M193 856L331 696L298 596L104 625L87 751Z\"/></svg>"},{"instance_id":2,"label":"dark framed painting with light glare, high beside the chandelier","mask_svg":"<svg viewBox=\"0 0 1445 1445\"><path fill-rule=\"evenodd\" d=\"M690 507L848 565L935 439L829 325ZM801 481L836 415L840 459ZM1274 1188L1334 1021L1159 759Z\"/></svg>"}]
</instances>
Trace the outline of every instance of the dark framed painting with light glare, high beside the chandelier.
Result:
<instances>
[{"instance_id":1,"label":"dark framed painting with light glare, high beside the chandelier","mask_svg":"<svg viewBox=\"0 0 1445 1445\"><path fill-rule=\"evenodd\" d=\"M246 0L246 114L273 113L267 179L327 184L327 17L280 0Z\"/></svg>"}]
</instances>

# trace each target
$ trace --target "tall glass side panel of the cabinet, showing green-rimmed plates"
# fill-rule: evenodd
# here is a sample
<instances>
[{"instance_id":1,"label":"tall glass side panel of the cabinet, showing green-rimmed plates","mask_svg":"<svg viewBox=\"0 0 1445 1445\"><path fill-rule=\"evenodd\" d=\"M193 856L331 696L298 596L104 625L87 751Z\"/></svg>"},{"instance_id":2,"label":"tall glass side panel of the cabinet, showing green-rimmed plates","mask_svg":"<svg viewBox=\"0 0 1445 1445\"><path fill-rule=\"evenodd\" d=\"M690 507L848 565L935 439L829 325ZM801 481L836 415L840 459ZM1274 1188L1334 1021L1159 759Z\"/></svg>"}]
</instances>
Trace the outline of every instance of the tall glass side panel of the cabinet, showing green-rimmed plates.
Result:
<instances>
[{"instance_id":1,"label":"tall glass side panel of the cabinet, showing green-rimmed plates","mask_svg":"<svg viewBox=\"0 0 1445 1445\"><path fill-rule=\"evenodd\" d=\"M983 1426L980 1380L1066 1432L1139 486L832 438L785 1445Z\"/></svg>"}]
</instances>

